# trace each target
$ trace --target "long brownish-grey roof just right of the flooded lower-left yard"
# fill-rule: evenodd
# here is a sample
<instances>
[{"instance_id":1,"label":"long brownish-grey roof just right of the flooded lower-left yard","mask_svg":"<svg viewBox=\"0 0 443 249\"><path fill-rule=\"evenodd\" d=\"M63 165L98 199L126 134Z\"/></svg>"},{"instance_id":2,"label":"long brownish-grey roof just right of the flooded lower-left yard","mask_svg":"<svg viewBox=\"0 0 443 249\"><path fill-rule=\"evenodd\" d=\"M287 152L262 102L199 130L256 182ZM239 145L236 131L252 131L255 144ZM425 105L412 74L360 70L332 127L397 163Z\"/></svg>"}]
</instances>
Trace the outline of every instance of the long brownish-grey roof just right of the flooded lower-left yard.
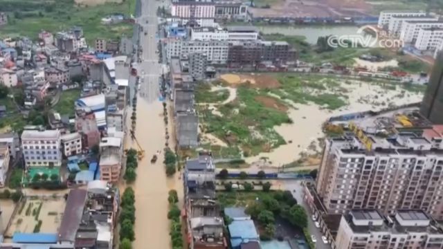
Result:
<instances>
[{"instance_id":1,"label":"long brownish-grey roof just right of the flooded lower-left yard","mask_svg":"<svg viewBox=\"0 0 443 249\"><path fill-rule=\"evenodd\" d=\"M75 241L75 232L82 219L84 204L87 200L86 190L71 190L66 200L62 223L58 232L58 241Z\"/></svg>"}]
</instances>

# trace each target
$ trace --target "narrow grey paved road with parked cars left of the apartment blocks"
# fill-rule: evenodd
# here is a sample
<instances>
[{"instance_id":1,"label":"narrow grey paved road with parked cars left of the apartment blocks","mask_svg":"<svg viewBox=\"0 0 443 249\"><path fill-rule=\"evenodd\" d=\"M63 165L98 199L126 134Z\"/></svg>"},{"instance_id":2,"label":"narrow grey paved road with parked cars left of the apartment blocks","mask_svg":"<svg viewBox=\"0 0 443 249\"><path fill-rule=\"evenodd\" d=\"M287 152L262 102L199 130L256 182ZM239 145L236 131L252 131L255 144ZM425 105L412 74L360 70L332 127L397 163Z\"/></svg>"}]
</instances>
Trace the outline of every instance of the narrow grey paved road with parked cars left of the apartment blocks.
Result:
<instances>
[{"instance_id":1,"label":"narrow grey paved road with parked cars left of the apartment blocks","mask_svg":"<svg viewBox=\"0 0 443 249\"><path fill-rule=\"evenodd\" d=\"M312 221L311 219L312 214L311 212L309 212L309 208L303 201L303 186L301 185L301 182L302 181L284 181L283 183L286 190L290 190L292 192L292 195L295 199L297 199L298 204L302 205L303 208L305 208L309 218L307 228L309 230L309 233L314 234L317 239L316 249L331 249L331 246L329 246L329 244L323 243L323 241L321 240L323 234L320 232L320 228L316 228L316 226L314 225L314 221ZM293 192L293 190L296 190L296 192Z\"/></svg>"}]
</instances>

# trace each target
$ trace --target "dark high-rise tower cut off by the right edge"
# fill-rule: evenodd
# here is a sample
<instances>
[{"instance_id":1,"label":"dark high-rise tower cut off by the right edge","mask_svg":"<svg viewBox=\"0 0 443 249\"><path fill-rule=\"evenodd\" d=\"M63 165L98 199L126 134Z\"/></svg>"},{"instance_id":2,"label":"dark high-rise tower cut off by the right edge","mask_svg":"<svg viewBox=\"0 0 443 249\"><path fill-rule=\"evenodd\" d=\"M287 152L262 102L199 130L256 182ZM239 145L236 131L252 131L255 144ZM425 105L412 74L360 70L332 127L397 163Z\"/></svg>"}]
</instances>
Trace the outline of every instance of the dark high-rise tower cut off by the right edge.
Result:
<instances>
[{"instance_id":1,"label":"dark high-rise tower cut off by the right edge","mask_svg":"<svg viewBox=\"0 0 443 249\"><path fill-rule=\"evenodd\" d=\"M435 59L420 113L434 124L443 124L443 53Z\"/></svg>"}]
</instances>

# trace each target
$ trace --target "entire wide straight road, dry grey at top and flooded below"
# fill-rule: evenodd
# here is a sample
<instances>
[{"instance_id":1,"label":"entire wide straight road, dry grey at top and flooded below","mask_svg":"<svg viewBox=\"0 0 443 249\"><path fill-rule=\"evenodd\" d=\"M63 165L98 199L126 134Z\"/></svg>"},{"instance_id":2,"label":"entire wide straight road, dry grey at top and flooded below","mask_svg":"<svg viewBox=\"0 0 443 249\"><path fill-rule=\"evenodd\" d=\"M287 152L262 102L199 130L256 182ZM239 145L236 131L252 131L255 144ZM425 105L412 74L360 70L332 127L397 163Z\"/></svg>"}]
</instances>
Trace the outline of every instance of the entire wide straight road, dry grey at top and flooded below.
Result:
<instances>
[{"instance_id":1,"label":"entire wide straight road, dry grey at top and flooded below","mask_svg":"<svg viewBox=\"0 0 443 249\"><path fill-rule=\"evenodd\" d=\"M163 165L163 153L156 163L150 159L157 151L165 147L165 122L163 121L163 104L159 100L159 77L161 65L156 53L156 10L159 2L141 0L141 15L137 23L143 30L139 33L142 53L141 60L136 66L140 76L141 86L137 98L137 115L135 135L140 146L145 150L145 158L138 162L137 179L132 187L135 191L134 232L136 240L132 244L135 249L171 248L168 221L168 191L175 189L179 194L180 203L183 201L183 183L179 174L172 178L166 177ZM145 35L146 33L146 35ZM130 113L128 113L130 116ZM130 127L127 119L127 127ZM170 131L172 130L170 120ZM128 139L129 147L138 148L136 142ZM170 140L170 147L174 147Z\"/></svg>"}]
</instances>

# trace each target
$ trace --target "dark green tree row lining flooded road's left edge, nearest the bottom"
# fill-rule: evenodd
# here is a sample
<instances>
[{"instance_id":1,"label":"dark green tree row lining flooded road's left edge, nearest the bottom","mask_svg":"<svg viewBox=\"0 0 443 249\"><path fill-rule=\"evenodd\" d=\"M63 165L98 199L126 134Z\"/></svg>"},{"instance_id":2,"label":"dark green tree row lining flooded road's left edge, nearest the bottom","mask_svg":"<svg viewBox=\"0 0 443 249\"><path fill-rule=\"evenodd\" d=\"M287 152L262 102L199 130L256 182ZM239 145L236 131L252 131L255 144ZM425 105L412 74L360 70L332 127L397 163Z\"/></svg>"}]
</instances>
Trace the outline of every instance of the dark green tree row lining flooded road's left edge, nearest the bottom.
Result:
<instances>
[{"instance_id":1,"label":"dark green tree row lining flooded road's left edge, nearest the bottom","mask_svg":"<svg viewBox=\"0 0 443 249\"><path fill-rule=\"evenodd\" d=\"M125 192L123 192L122 201L120 206L122 211L120 213L120 243L126 240L134 241L134 223L136 221L135 217L135 194L132 187L127 187ZM127 243L127 242L125 242Z\"/></svg>"}]
</instances>

